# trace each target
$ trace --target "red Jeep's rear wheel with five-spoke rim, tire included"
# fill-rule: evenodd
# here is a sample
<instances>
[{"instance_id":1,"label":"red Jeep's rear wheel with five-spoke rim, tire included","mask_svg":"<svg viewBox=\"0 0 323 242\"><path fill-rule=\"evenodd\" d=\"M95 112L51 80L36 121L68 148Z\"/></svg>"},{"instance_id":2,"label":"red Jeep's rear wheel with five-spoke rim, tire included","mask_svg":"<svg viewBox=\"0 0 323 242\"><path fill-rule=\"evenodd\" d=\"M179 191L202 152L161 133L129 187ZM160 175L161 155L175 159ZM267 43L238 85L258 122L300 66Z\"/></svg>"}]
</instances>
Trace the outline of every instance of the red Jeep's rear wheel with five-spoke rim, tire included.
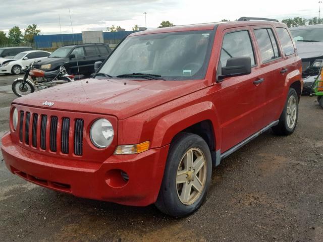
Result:
<instances>
[{"instance_id":1,"label":"red Jeep's rear wheel with five-spoke rim, tire included","mask_svg":"<svg viewBox=\"0 0 323 242\"><path fill-rule=\"evenodd\" d=\"M296 129L297 119L298 119L298 96L295 89L290 88L287 95L287 100L284 106L284 110L279 118L279 123L277 126L273 127L272 129L276 135L290 135Z\"/></svg>"}]
</instances>

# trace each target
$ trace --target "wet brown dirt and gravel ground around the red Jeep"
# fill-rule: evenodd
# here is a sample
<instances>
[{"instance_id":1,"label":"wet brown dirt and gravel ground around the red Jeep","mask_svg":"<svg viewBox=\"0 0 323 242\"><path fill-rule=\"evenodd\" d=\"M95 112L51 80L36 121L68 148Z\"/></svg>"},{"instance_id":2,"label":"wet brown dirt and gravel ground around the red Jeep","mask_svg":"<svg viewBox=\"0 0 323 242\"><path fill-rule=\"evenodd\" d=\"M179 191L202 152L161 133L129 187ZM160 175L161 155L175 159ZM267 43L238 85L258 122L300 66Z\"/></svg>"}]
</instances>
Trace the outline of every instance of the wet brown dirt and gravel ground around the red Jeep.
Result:
<instances>
[{"instance_id":1,"label":"wet brown dirt and gravel ground around the red Jeep","mask_svg":"<svg viewBox=\"0 0 323 242\"><path fill-rule=\"evenodd\" d=\"M0 76L0 135L13 78ZM293 135L266 132L213 169L205 204L182 219L50 191L1 161L0 241L323 241L323 109L303 96L299 110Z\"/></svg>"}]
</instances>

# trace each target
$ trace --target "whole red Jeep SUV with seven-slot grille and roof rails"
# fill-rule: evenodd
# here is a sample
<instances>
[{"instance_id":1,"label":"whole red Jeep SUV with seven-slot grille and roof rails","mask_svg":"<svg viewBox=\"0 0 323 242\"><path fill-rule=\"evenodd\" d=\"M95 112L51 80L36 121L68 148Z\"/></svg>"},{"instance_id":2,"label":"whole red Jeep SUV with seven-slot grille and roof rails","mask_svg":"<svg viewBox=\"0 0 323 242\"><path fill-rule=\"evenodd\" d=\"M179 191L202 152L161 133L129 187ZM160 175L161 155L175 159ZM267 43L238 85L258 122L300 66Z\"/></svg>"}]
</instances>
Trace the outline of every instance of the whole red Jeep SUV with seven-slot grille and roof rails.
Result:
<instances>
[{"instance_id":1,"label":"whole red Jeep SUV with seven-slot grille and roof rails","mask_svg":"<svg viewBox=\"0 0 323 242\"><path fill-rule=\"evenodd\" d=\"M93 78L14 100L8 169L78 197L192 213L212 167L297 124L303 80L289 30L250 20L133 33Z\"/></svg>"}]
</instances>

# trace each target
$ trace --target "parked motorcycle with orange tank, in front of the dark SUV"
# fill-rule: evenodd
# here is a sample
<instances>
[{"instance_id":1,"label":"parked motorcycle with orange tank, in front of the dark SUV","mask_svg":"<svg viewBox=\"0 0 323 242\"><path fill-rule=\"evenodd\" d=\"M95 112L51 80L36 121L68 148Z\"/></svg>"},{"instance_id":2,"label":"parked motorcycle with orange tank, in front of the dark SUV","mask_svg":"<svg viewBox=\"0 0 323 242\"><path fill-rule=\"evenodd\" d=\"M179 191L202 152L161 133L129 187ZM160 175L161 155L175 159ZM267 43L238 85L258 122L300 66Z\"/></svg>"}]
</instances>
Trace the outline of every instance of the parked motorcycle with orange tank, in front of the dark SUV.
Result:
<instances>
[{"instance_id":1,"label":"parked motorcycle with orange tank, in front of the dark SUV","mask_svg":"<svg viewBox=\"0 0 323 242\"><path fill-rule=\"evenodd\" d=\"M57 71L43 72L38 69L33 69L34 64L38 62L40 61L33 62L22 69L22 72L25 73L24 77L17 78L13 82L12 91L16 96L22 97L34 92L36 89L42 90L58 84L74 82L74 75L69 75L65 67L61 66ZM28 79L28 75L31 77L31 80Z\"/></svg>"}]
</instances>

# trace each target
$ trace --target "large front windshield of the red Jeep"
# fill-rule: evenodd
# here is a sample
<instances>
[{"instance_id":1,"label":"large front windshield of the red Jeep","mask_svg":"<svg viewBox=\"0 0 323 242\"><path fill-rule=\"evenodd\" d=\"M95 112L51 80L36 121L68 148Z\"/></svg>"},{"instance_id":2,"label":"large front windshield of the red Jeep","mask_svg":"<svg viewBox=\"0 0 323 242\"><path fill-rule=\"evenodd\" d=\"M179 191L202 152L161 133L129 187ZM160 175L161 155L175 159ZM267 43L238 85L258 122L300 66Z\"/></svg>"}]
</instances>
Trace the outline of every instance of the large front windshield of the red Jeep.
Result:
<instances>
[{"instance_id":1,"label":"large front windshield of the red Jeep","mask_svg":"<svg viewBox=\"0 0 323 242\"><path fill-rule=\"evenodd\" d=\"M127 37L99 73L113 77L142 73L165 80L202 79L211 52L211 36L212 31L186 31Z\"/></svg>"}]
</instances>

